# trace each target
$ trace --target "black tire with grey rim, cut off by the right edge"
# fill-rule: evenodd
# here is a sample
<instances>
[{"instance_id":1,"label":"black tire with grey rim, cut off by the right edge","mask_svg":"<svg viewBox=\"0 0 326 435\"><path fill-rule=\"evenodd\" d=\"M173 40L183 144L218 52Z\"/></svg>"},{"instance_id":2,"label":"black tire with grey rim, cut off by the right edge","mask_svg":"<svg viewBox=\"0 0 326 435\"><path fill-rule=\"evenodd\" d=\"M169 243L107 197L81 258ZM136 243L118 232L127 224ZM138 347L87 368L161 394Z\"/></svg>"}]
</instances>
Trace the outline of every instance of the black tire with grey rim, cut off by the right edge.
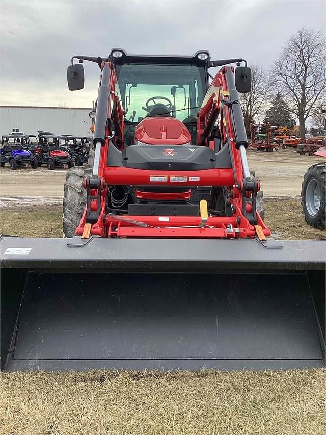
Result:
<instances>
[{"instance_id":1,"label":"black tire with grey rim, cut off by the right edge","mask_svg":"<svg viewBox=\"0 0 326 435\"><path fill-rule=\"evenodd\" d=\"M310 226L326 228L326 163L310 166L305 173L301 205L305 220Z\"/></svg>"}]
</instances>

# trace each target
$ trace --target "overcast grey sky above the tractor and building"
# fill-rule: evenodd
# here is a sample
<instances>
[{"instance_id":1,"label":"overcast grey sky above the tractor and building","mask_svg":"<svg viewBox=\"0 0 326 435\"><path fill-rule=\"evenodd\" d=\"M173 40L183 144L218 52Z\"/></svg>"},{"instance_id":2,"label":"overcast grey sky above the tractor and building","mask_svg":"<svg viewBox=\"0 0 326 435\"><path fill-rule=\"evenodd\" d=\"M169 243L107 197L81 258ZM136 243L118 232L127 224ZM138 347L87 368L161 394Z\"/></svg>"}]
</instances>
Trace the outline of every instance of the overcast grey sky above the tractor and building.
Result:
<instances>
[{"instance_id":1,"label":"overcast grey sky above the tractor and building","mask_svg":"<svg viewBox=\"0 0 326 435\"><path fill-rule=\"evenodd\" d=\"M0 105L91 107L99 69L67 89L73 55L243 57L268 68L304 27L324 30L326 0L0 0Z\"/></svg>"}]
</instances>

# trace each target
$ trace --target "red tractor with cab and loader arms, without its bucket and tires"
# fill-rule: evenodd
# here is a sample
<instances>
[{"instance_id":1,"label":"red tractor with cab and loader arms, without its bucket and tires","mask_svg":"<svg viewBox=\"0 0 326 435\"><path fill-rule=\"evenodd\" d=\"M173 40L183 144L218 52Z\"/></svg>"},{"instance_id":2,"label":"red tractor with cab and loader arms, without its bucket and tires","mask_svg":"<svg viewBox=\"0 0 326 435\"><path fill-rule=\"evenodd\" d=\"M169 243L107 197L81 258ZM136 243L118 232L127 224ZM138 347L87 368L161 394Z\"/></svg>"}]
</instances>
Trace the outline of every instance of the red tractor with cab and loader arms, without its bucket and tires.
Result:
<instances>
[{"instance_id":1,"label":"red tractor with cab and loader arms, without its bucket and tires","mask_svg":"<svg viewBox=\"0 0 326 435\"><path fill-rule=\"evenodd\" d=\"M77 58L98 63L102 79L94 166L84 182L87 206L76 234L227 239L258 234L263 240L270 235L257 212L260 183L249 171L238 102L237 89L250 89L250 68L238 66L234 80L234 68L223 66L210 86L206 72L242 59L211 61L207 52L149 58L120 49L105 61ZM82 68L68 68L71 90L83 87Z\"/></svg>"}]
</instances>

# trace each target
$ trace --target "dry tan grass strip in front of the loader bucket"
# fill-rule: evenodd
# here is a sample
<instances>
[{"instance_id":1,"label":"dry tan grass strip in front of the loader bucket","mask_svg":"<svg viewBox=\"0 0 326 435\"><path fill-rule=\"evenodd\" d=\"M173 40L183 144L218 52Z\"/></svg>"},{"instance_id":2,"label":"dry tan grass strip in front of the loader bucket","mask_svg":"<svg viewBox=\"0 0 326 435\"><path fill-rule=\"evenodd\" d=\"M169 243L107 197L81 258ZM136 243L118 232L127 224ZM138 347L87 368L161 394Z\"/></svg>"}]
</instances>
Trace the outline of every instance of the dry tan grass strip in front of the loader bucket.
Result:
<instances>
[{"instance_id":1,"label":"dry tan grass strip in front of the loader bucket","mask_svg":"<svg viewBox=\"0 0 326 435\"><path fill-rule=\"evenodd\" d=\"M321 435L326 370L2 373L0 433Z\"/></svg>"}]
</instances>

